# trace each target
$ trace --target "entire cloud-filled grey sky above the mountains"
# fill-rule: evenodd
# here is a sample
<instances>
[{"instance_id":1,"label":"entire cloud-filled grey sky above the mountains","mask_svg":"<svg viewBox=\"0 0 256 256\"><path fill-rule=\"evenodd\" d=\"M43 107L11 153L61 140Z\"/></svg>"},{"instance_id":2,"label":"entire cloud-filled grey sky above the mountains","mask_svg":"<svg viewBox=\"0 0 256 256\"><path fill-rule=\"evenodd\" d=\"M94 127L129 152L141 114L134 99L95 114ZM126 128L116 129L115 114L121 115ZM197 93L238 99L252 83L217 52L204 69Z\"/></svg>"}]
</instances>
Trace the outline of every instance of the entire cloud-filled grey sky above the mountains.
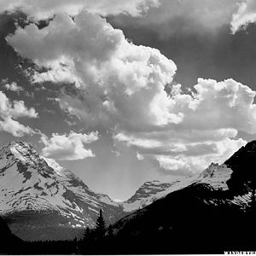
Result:
<instances>
[{"instance_id":1,"label":"entire cloud-filled grey sky above the mountains","mask_svg":"<svg viewBox=\"0 0 256 256\"><path fill-rule=\"evenodd\" d=\"M1 147L126 200L255 139L255 1L95 2L0 0Z\"/></svg>"}]
</instances>

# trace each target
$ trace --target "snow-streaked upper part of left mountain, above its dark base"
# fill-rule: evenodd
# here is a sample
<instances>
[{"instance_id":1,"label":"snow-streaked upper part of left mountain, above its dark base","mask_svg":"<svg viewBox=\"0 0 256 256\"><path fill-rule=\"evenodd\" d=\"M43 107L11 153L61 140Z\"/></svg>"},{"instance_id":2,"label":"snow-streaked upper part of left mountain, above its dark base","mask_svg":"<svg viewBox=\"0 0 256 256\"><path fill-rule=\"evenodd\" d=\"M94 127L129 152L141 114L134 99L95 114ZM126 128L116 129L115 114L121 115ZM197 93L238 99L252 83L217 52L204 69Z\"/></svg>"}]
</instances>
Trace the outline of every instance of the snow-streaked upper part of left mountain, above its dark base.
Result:
<instances>
[{"instance_id":1,"label":"snow-streaked upper part of left mountain, above its dark base","mask_svg":"<svg viewBox=\"0 0 256 256\"><path fill-rule=\"evenodd\" d=\"M55 212L68 225L93 227L100 209L107 221L123 212L108 195L96 194L28 143L12 142L0 149L0 215L42 212L51 218L50 212Z\"/></svg>"}]
</instances>

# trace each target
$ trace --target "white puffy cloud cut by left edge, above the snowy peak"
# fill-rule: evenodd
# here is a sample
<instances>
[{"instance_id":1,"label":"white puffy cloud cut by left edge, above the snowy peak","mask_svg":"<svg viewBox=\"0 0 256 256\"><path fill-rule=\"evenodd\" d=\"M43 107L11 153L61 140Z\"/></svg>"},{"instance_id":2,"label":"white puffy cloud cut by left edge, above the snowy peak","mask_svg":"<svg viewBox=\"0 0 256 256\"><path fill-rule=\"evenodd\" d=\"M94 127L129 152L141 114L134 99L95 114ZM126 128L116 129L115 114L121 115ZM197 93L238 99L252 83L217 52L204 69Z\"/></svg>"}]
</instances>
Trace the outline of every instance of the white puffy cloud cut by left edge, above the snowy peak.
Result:
<instances>
[{"instance_id":1,"label":"white puffy cloud cut by left edge, above the snowy peak","mask_svg":"<svg viewBox=\"0 0 256 256\"><path fill-rule=\"evenodd\" d=\"M15 137L32 134L30 127L20 124L16 119L21 117L37 118L34 108L26 108L22 101L10 102L9 98L0 91L0 131L11 133Z\"/></svg>"}]
</instances>

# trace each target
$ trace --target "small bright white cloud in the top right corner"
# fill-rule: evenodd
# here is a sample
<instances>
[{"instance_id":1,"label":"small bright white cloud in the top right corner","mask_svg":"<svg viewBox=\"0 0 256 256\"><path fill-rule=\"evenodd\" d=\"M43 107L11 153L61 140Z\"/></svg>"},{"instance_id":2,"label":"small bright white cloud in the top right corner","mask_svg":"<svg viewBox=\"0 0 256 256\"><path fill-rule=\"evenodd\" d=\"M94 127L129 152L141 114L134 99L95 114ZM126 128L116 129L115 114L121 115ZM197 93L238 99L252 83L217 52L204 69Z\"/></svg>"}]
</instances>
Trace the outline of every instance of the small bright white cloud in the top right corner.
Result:
<instances>
[{"instance_id":1,"label":"small bright white cloud in the top right corner","mask_svg":"<svg viewBox=\"0 0 256 256\"><path fill-rule=\"evenodd\" d=\"M256 2L254 0L244 1L239 5L236 14L231 21L231 31L236 33L248 24L256 22Z\"/></svg>"}]
</instances>

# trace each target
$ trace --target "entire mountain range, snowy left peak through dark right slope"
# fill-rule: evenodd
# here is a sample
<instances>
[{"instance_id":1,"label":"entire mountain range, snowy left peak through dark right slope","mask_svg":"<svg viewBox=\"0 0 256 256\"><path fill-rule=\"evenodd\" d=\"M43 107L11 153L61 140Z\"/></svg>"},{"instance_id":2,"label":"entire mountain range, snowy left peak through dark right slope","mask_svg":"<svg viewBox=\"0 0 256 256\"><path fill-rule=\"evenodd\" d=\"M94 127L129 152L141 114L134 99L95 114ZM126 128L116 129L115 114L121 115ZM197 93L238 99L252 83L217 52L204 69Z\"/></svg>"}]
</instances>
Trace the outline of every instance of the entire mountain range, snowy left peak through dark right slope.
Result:
<instances>
[{"instance_id":1,"label":"entire mountain range, snowy left peak through dark right slope","mask_svg":"<svg viewBox=\"0 0 256 256\"><path fill-rule=\"evenodd\" d=\"M115 253L254 250L254 166L255 141L222 165L172 183L144 183L116 203L28 143L12 142L0 150L0 214L24 240L61 240L93 228L102 209L113 224Z\"/></svg>"}]
</instances>

